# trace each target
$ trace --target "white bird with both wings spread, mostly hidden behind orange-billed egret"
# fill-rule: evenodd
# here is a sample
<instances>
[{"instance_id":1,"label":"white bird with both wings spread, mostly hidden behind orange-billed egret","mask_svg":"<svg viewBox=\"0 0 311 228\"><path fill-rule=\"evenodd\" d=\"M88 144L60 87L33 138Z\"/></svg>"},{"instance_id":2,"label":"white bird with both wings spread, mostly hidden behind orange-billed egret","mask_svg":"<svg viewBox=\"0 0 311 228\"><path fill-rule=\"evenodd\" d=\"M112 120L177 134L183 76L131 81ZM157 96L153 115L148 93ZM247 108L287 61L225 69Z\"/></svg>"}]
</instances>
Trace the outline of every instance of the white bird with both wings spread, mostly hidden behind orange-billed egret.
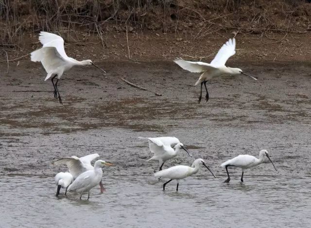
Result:
<instances>
[{"instance_id":1,"label":"white bird with both wings spread, mostly hidden behind orange-billed egret","mask_svg":"<svg viewBox=\"0 0 311 228\"><path fill-rule=\"evenodd\" d=\"M69 169L69 173L73 176L73 179L75 179L78 177L78 175L86 172L87 170L93 170L94 167L91 165L91 161L95 160L96 158L99 158L98 154L86 155L81 158L71 156L67 158L60 158L54 161L53 164L55 165L66 164ZM101 181L99 185L101 187L101 193L103 193L105 191L103 182Z\"/></svg>"}]
</instances>

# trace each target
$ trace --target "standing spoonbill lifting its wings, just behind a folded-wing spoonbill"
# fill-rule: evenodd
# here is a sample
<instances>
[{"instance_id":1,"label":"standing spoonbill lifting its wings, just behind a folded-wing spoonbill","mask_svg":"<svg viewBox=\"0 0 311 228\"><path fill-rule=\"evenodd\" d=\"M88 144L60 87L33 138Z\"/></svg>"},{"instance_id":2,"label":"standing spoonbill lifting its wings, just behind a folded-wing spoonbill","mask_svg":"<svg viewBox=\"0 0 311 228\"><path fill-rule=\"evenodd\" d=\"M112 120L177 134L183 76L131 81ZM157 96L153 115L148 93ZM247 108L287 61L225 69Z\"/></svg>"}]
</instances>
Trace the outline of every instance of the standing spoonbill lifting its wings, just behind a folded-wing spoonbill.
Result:
<instances>
[{"instance_id":1,"label":"standing spoonbill lifting its wings, just behind a folded-wing spoonbill","mask_svg":"<svg viewBox=\"0 0 311 228\"><path fill-rule=\"evenodd\" d=\"M174 158L177 156L180 149L185 150L190 157L192 155L189 154L186 147L175 137L157 137L157 138L143 138L139 137L139 139L147 139L149 140L149 149L155 155L148 159L159 161L159 170L162 170L162 166L165 161ZM171 145L176 144L174 148Z\"/></svg>"}]
</instances>

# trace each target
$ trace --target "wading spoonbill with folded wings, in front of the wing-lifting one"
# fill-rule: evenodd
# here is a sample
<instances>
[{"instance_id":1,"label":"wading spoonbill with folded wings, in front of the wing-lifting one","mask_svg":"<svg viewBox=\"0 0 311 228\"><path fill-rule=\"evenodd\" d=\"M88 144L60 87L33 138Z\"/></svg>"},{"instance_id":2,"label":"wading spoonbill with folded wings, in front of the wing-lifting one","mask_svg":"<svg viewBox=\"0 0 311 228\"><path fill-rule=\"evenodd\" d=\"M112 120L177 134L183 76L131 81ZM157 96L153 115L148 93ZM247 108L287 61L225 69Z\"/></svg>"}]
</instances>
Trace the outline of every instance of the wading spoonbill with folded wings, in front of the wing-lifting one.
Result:
<instances>
[{"instance_id":1,"label":"wading spoonbill with folded wings, in front of the wing-lifting one","mask_svg":"<svg viewBox=\"0 0 311 228\"><path fill-rule=\"evenodd\" d=\"M164 178L169 178L170 180L165 182L163 184L163 190L165 190L165 185L169 183L172 180L177 180L177 188L176 191L178 191L178 185L179 185L179 180L184 179L192 174L196 174L199 169L200 169L200 164L203 164L209 172L216 178L216 176L212 173L212 171L207 167L205 164L204 160L202 158L196 159L191 167L186 166L186 165L176 165L171 168L159 171L155 173L156 177L164 177Z\"/></svg>"}]
</instances>

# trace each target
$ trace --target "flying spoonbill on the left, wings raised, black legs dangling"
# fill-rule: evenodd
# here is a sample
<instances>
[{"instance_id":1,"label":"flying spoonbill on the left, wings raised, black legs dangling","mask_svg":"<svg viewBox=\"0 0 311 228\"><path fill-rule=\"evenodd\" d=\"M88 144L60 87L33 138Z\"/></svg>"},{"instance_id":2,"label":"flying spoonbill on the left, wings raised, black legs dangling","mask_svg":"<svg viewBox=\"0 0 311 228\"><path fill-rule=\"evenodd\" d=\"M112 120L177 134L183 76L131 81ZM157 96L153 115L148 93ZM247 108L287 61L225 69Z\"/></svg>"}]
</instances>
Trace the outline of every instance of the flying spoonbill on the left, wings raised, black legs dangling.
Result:
<instances>
[{"instance_id":1,"label":"flying spoonbill on the left, wings raised, black legs dangling","mask_svg":"<svg viewBox=\"0 0 311 228\"><path fill-rule=\"evenodd\" d=\"M44 81L52 77L51 80L54 88L54 98L57 98L58 94L59 102L63 104L57 88L58 80L61 78L63 73L70 70L73 66L97 66L95 66L91 60L77 61L68 57L64 49L64 40L59 35L40 32L39 41L43 47L31 53L31 61L42 63L44 69L48 73ZM97 68L100 69L99 67ZM56 76L57 79L54 84L53 80Z\"/></svg>"}]
</instances>

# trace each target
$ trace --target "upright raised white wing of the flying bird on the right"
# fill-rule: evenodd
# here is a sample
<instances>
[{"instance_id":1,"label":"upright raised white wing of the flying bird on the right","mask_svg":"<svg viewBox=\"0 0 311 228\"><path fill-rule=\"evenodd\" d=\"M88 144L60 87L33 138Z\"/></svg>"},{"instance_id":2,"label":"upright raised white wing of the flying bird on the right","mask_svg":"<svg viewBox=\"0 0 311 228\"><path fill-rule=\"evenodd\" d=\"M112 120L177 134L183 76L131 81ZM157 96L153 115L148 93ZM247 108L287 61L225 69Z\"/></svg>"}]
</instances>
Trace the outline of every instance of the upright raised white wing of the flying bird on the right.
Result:
<instances>
[{"instance_id":1,"label":"upright raised white wing of the flying bird on the right","mask_svg":"<svg viewBox=\"0 0 311 228\"><path fill-rule=\"evenodd\" d=\"M213 67L221 67L232 55L235 54L235 38L229 39L221 49L219 49L215 58L210 62Z\"/></svg>"}]
</instances>

